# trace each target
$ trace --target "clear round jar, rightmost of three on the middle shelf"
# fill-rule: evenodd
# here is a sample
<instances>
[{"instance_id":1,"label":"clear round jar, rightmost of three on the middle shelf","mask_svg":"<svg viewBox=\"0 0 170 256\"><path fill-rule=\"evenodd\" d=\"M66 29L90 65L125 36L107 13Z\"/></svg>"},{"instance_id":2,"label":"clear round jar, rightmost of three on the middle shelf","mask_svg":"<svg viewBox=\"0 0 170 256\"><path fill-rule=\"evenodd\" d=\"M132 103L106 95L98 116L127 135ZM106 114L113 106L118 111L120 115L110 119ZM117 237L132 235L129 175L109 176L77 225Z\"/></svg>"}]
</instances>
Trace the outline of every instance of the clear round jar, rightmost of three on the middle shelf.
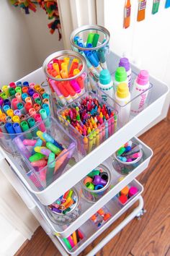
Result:
<instances>
[{"instance_id":1,"label":"clear round jar, rightmost of three on the middle shelf","mask_svg":"<svg viewBox=\"0 0 170 256\"><path fill-rule=\"evenodd\" d=\"M132 140L132 148L135 146L139 145L136 141ZM117 171L119 174L122 175L128 175L131 171L133 171L134 168L140 165L140 163L143 162L143 149L141 148L140 151L141 153L140 157L136 158L135 161L133 162L123 162L119 158L117 158L117 154L114 153L113 155L113 168L115 168L115 171Z\"/></svg>"}]
</instances>

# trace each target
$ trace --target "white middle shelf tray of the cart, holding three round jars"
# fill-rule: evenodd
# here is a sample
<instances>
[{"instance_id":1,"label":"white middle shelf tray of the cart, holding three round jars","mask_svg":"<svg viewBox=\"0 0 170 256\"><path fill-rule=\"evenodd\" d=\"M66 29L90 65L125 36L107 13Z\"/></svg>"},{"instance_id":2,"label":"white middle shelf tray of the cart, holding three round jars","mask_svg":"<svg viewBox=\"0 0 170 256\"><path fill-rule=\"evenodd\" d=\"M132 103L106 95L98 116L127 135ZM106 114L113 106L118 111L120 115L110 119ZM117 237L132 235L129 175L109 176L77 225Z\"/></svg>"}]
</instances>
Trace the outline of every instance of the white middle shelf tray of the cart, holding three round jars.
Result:
<instances>
[{"instance_id":1,"label":"white middle shelf tray of the cart, holding three round jars","mask_svg":"<svg viewBox=\"0 0 170 256\"><path fill-rule=\"evenodd\" d=\"M103 205L105 205L109 200L112 199L112 197L115 197L120 190L125 187L126 185L130 184L130 182L135 179L136 176L138 176L142 171L144 171L151 160L151 156L153 155L153 152L151 148L148 148L146 144L138 140L137 138L133 138L136 142L143 145L143 161L140 163L139 166L133 169L132 172L130 172L121 182L117 182L117 180L120 178L119 173L115 171L112 165L113 158L109 157L106 161L103 162L104 166L107 166L109 168L109 171L111 171L111 189L107 192L107 194L103 195L102 198L100 198L97 202L91 203L87 202L84 197L81 197L81 215L76 218L76 221L73 221L73 223L70 223L68 226L58 226L51 218L49 218L45 205L42 205L39 200L37 200L37 197L32 194L32 198L37 205L37 208L39 208L40 213L42 214L43 218L45 218L45 221L48 221L49 226L51 226L51 229L53 229L53 232L57 233L60 236L66 237L73 233L75 229L78 229L82 223L85 223L91 215L97 212L99 208L102 208ZM96 166L97 167L97 166ZM76 189L80 191L81 184L76 184Z\"/></svg>"}]
</instances>

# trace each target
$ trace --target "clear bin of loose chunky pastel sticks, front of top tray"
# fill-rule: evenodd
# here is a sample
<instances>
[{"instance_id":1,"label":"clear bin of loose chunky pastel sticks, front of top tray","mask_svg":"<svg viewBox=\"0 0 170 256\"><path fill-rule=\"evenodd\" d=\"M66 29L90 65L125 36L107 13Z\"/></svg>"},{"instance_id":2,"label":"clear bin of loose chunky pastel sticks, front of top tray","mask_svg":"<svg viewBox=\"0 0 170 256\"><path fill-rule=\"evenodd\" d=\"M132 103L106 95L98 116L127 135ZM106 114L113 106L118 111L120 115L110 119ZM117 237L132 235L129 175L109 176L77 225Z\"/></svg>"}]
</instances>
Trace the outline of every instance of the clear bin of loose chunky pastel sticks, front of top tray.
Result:
<instances>
[{"instance_id":1,"label":"clear bin of loose chunky pastel sticks, front of top tray","mask_svg":"<svg viewBox=\"0 0 170 256\"><path fill-rule=\"evenodd\" d=\"M53 117L38 122L14 138L13 143L20 154L20 177L27 187L36 187L37 191L48 187L79 161L76 141Z\"/></svg>"}]
</instances>

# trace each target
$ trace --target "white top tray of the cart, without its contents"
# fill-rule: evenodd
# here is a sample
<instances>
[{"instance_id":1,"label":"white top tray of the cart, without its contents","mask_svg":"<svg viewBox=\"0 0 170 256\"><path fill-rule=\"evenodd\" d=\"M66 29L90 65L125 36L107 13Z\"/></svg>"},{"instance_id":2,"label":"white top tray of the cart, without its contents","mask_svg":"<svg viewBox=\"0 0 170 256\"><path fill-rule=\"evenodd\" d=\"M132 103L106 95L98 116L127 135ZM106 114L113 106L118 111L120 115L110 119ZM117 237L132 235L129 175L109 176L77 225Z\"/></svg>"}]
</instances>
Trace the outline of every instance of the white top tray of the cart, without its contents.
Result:
<instances>
[{"instance_id":1,"label":"white top tray of the cart, without its contents","mask_svg":"<svg viewBox=\"0 0 170 256\"><path fill-rule=\"evenodd\" d=\"M120 56L113 53L109 54L108 66L111 73L115 72L114 68L117 67L119 59ZM133 64L131 65L131 68L136 74L140 71ZM42 84L42 82L45 82L45 74L41 67L20 80ZM151 124L154 119L161 115L169 88L164 82L156 80L156 78L152 76L150 77L150 82L153 85L153 88L148 106L140 112L140 114L134 116L128 124L125 124L124 127L119 129L114 135L99 145L99 147L86 155L86 157L66 171L66 173L55 180L55 182L50 184L46 189L37 191L33 184L32 186L28 184L18 170L18 168L21 167L17 166L17 161L14 161L14 159L11 158L12 161L10 162L19 178L22 179L22 182L24 182L30 192L35 194L43 205L50 205L53 203L56 198L63 195L64 192L78 183L93 168L96 168L100 163L106 160L109 155L112 155L112 153L120 148L121 145L130 140L134 135L137 135L142 129L147 127L148 124Z\"/></svg>"}]
</instances>

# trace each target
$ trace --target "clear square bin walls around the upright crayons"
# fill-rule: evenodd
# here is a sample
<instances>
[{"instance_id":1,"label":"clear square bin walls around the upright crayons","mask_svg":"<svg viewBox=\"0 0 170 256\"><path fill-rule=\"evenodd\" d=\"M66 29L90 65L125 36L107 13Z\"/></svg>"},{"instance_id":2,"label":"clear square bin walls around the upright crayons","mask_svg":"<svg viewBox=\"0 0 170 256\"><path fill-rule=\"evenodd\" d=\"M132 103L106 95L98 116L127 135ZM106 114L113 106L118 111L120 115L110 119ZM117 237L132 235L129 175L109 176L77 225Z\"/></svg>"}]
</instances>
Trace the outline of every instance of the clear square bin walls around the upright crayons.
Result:
<instances>
[{"instance_id":1,"label":"clear square bin walls around the upright crayons","mask_svg":"<svg viewBox=\"0 0 170 256\"><path fill-rule=\"evenodd\" d=\"M71 125L70 121L66 119L64 116L70 110L73 110L74 107L79 107L81 103L84 101L88 101L89 98L92 98L98 101L98 105L106 106L109 109L110 113L112 112L112 116L109 117L103 124L99 124L97 129L94 129L89 135L81 135L79 130L77 130L73 125ZM82 113L82 111L79 111ZM96 113L96 112L95 112ZM79 115L80 116L80 115ZM81 155L86 155L97 148L99 145L102 144L107 138L112 136L117 131L117 111L115 108L106 105L101 98L95 95L92 92L86 92L84 95L73 101L73 103L69 104L68 106L58 110L58 119L61 121L61 124L65 129L67 129L68 133L77 141L78 143L78 150ZM81 119L81 116L80 116ZM82 120L79 121L79 124L82 124Z\"/></svg>"}]
</instances>

